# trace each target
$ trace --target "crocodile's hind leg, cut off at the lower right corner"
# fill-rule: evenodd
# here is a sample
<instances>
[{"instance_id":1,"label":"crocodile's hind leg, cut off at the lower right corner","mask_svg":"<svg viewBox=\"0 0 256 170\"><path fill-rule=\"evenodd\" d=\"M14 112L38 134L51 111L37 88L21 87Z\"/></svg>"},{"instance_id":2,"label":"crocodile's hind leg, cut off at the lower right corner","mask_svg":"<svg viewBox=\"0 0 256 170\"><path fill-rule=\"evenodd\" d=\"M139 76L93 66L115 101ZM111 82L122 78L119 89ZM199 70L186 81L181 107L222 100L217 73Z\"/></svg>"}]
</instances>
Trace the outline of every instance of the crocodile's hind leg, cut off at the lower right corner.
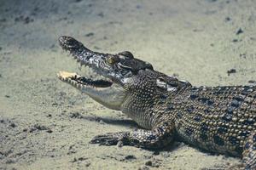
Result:
<instances>
[{"instance_id":1,"label":"crocodile's hind leg, cut off at the lower right corner","mask_svg":"<svg viewBox=\"0 0 256 170\"><path fill-rule=\"evenodd\" d=\"M246 170L256 169L256 131L247 138L242 156Z\"/></svg>"}]
</instances>

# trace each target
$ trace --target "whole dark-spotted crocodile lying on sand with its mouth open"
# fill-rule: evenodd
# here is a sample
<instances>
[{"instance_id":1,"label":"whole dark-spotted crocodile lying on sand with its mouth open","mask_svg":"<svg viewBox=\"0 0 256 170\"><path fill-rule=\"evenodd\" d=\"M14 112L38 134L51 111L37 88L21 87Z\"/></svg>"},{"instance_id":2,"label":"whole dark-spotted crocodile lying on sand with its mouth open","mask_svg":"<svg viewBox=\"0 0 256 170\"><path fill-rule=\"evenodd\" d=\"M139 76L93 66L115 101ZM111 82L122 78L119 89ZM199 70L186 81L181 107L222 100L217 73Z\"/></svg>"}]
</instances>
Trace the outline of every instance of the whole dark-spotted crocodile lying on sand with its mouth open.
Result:
<instances>
[{"instance_id":1,"label":"whole dark-spotted crocodile lying on sand with its mouth open","mask_svg":"<svg viewBox=\"0 0 256 170\"><path fill-rule=\"evenodd\" d=\"M241 168L256 169L256 86L195 87L154 71L129 51L93 52L73 37L61 48L102 79L60 71L59 79L98 103L137 122L139 129L97 135L90 144L164 148L181 140L201 150L241 157Z\"/></svg>"}]
</instances>

